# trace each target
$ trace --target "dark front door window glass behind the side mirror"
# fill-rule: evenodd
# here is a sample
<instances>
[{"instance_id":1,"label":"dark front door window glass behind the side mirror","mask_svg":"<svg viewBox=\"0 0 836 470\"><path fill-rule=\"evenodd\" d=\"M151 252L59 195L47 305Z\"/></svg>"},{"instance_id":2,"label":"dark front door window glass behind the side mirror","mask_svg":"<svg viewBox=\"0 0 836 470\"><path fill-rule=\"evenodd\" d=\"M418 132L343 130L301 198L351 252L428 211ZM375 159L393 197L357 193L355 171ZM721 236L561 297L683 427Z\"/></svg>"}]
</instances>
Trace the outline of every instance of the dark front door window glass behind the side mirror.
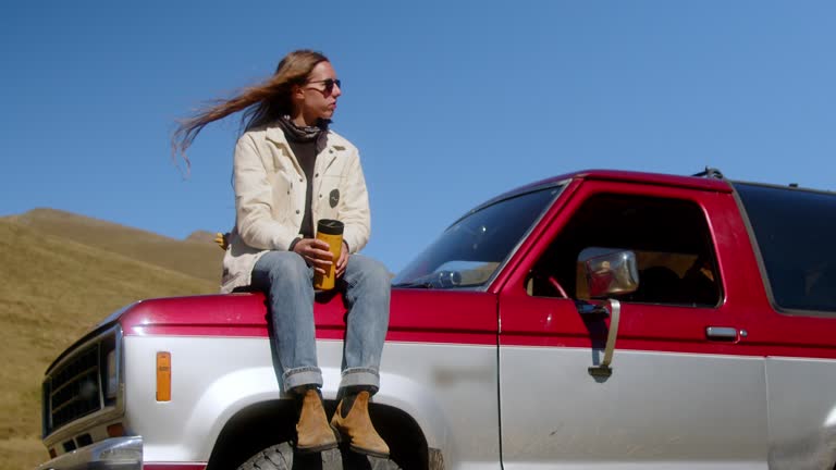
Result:
<instances>
[{"instance_id":1,"label":"dark front door window glass behind the side mirror","mask_svg":"<svg viewBox=\"0 0 836 470\"><path fill-rule=\"evenodd\" d=\"M588 300L579 261L630 250L639 288L623 301L711 307L720 304L720 277L705 217L688 200L600 194L590 197L536 263L532 296Z\"/></svg>"}]
</instances>

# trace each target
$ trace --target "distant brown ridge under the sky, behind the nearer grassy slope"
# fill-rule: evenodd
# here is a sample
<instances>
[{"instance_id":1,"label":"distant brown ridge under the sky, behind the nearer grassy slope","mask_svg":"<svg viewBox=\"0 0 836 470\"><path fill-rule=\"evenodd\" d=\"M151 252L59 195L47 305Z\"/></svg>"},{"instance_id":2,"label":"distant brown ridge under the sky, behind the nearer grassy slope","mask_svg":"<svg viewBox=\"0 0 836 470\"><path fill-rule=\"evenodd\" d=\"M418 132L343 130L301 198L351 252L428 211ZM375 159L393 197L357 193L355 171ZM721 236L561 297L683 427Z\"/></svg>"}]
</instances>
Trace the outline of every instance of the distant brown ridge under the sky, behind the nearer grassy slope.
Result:
<instances>
[{"instance_id":1,"label":"distant brown ridge under the sky, behind the nearer grassy slope","mask_svg":"<svg viewBox=\"0 0 836 470\"><path fill-rule=\"evenodd\" d=\"M5 219L44 235L144 260L220 285L223 251L211 242L213 235L208 232L196 232L179 240L54 209L35 209Z\"/></svg>"}]
</instances>

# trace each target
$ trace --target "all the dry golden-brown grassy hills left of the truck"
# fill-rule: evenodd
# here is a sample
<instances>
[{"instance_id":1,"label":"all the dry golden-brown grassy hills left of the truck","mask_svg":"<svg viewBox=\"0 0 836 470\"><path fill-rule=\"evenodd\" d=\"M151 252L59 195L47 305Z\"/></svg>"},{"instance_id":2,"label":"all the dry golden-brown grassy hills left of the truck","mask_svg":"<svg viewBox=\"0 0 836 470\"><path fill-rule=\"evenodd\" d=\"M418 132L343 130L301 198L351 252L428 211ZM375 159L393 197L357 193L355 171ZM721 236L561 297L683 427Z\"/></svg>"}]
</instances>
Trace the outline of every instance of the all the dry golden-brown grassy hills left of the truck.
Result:
<instances>
[{"instance_id":1,"label":"all the dry golden-brown grassy hills left of the truck","mask_svg":"<svg viewBox=\"0 0 836 470\"><path fill-rule=\"evenodd\" d=\"M206 233L176 240L50 209L0 218L0 468L48 458L40 381L59 352L138 299L217 292L221 257Z\"/></svg>"}]
</instances>

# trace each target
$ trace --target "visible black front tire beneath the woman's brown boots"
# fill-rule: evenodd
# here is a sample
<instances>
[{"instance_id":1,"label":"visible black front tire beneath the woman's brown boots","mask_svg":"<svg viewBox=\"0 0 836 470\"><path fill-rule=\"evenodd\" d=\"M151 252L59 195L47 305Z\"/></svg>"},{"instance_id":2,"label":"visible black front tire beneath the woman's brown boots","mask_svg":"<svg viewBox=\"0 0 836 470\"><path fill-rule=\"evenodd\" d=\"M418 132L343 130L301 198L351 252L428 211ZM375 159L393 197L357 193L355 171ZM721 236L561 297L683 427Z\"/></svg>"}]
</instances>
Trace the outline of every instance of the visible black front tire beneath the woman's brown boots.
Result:
<instances>
[{"instance_id":1,"label":"visible black front tire beneath the woman's brown boots","mask_svg":"<svg viewBox=\"0 0 836 470\"><path fill-rule=\"evenodd\" d=\"M356 454L336 448L318 454L298 455L290 443L272 445L258 452L237 470L401 470L390 459Z\"/></svg>"}]
</instances>

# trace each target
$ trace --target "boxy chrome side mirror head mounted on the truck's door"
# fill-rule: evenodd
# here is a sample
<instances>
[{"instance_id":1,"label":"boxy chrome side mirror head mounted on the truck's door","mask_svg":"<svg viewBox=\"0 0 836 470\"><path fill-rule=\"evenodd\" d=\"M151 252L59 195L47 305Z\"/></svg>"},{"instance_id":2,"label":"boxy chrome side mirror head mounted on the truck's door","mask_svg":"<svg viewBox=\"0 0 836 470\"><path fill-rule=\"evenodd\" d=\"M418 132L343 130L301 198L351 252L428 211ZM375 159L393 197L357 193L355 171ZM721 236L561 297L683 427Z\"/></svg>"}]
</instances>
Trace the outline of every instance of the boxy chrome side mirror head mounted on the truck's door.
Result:
<instances>
[{"instance_id":1,"label":"boxy chrome side mirror head mounted on the truck's door","mask_svg":"<svg viewBox=\"0 0 836 470\"><path fill-rule=\"evenodd\" d=\"M583 263L590 298L629 294L639 288L639 269L632 251L614 251L580 261Z\"/></svg>"}]
</instances>

